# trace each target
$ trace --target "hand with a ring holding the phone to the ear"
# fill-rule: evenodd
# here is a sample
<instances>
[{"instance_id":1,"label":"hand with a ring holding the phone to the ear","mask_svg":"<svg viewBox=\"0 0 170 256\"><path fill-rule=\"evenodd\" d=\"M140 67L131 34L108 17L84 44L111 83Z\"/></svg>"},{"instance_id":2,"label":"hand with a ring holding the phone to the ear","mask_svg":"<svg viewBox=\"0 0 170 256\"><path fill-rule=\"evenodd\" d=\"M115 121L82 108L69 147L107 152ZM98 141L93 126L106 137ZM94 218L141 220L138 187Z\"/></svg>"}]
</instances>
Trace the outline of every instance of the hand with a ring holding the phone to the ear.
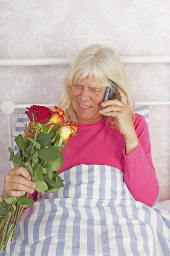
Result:
<instances>
[{"instance_id":1,"label":"hand with a ring holding the phone to the ear","mask_svg":"<svg viewBox=\"0 0 170 256\"><path fill-rule=\"evenodd\" d=\"M133 125L132 113L129 105L127 105L127 97L119 87L117 92L121 96L121 101L118 99L112 99L102 102L101 106L104 107L104 109L99 111L99 113L104 116L114 117L114 121L119 132L124 136L136 134Z\"/></svg>"}]
</instances>

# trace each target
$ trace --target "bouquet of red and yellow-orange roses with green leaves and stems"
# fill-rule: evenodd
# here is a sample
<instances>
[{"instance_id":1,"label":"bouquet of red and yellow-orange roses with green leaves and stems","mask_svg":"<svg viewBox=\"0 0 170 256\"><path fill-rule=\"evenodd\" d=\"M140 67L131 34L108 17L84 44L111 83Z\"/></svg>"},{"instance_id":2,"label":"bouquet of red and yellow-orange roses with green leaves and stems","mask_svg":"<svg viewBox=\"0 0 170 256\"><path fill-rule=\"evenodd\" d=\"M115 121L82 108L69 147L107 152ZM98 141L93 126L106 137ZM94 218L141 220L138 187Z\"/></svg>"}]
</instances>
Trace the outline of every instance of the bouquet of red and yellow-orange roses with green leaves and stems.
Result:
<instances>
[{"instance_id":1,"label":"bouquet of red and yellow-orange roses with green leaves and stems","mask_svg":"<svg viewBox=\"0 0 170 256\"><path fill-rule=\"evenodd\" d=\"M49 108L32 105L25 113L30 119L29 125L25 125L23 135L15 137L15 142L20 148L14 154L9 147L10 159L14 166L24 166L36 183L38 192L56 192L63 187L63 180L56 171L63 166L63 153L70 137L76 135L78 126L74 122L64 122L64 112L54 107ZM67 149L68 150L68 149ZM71 152L70 152L71 153ZM18 219L25 207L34 204L34 200L28 197L5 198L0 202L0 250L6 250L9 237L14 241Z\"/></svg>"}]
</instances>

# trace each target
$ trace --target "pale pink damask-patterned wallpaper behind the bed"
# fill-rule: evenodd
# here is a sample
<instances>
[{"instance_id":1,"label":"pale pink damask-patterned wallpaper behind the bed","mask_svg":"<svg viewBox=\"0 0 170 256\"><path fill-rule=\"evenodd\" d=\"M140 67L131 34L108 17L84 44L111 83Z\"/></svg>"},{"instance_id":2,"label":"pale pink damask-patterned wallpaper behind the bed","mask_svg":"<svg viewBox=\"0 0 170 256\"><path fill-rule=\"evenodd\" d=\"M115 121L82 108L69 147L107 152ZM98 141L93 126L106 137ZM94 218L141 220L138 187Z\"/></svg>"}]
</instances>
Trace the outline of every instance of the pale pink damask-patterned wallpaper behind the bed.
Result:
<instances>
[{"instance_id":1,"label":"pale pink damask-patterned wallpaper behind the bed","mask_svg":"<svg viewBox=\"0 0 170 256\"><path fill-rule=\"evenodd\" d=\"M170 55L169 0L1 0L0 58L75 57L103 43L120 55ZM170 64L125 64L135 101L170 100ZM0 67L0 103L57 103L68 66ZM12 114L12 129L18 110ZM150 107L160 186L170 199L170 106ZM0 195L9 172L7 117L0 112Z\"/></svg>"}]
</instances>

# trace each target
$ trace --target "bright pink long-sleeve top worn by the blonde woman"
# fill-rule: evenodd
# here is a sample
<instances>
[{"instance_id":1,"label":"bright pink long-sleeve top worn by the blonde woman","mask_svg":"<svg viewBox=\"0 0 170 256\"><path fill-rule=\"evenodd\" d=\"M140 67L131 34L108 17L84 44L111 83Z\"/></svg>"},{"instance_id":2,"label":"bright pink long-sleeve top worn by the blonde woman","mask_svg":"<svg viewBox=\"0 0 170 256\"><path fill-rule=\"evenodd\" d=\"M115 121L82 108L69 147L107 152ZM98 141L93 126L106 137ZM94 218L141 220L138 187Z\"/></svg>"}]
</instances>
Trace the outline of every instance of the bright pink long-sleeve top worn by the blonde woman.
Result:
<instances>
[{"instance_id":1,"label":"bright pink long-sleeve top worn by the blonde woman","mask_svg":"<svg viewBox=\"0 0 170 256\"><path fill-rule=\"evenodd\" d=\"M98 164L118 168L124 173L124 181L136 201L152 207L159 187L151 158L150 137L144 117L135 113L134 128L139 143L130 155L126 155L124 136L118 131L109 131L106 119L79 126L80 136L72 137L63 149L64 164L58 174L80 164ZM37 192L29 195L35 200Z\"/></svg>"}]
</instances>

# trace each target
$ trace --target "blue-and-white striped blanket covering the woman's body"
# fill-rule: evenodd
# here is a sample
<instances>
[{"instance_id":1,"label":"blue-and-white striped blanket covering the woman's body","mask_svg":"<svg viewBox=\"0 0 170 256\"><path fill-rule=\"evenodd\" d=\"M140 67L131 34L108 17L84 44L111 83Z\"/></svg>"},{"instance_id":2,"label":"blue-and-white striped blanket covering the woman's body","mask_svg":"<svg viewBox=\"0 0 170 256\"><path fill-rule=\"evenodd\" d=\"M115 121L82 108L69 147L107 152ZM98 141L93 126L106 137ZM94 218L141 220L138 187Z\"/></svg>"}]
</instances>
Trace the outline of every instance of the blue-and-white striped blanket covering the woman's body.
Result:
<instances>
[{"instance_id":1,"label":"blue-and-white striped blanket covering the woman's body","mask_svg":"<svg viewBox=\"0 0 170 256\"><path fill-rule=\"evenodd\" d=\"M38 193L1 256L170 256L170 211L135 201L123 173L79 165L65 186Z\"/></svg>"}]
</instances>

